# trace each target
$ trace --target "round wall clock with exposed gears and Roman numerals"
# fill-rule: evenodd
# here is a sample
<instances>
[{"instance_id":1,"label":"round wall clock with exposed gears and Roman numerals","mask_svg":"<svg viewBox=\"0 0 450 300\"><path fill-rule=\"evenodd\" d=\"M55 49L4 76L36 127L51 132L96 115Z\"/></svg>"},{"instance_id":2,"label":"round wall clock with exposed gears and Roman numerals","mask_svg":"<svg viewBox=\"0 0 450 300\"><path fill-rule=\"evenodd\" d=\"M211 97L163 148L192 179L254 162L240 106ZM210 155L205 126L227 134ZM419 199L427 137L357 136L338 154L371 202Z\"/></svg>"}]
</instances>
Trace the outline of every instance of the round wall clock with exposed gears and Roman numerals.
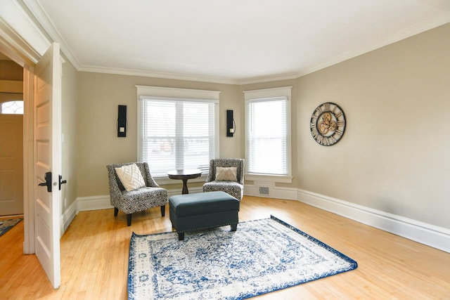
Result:
<instances>
[{"instance_id":1,"label":"round wall clock with exposed gears and Roman numerals","mask_svg":"<svg viewBox=\"0 0 450 300\"><path fill-rule=\"evenodd\" d=\"M339 105L323 103L311 115L311 135L324 146L331 146L342 138L345 131L345 115Z\"/></svg>"}]
</instances>

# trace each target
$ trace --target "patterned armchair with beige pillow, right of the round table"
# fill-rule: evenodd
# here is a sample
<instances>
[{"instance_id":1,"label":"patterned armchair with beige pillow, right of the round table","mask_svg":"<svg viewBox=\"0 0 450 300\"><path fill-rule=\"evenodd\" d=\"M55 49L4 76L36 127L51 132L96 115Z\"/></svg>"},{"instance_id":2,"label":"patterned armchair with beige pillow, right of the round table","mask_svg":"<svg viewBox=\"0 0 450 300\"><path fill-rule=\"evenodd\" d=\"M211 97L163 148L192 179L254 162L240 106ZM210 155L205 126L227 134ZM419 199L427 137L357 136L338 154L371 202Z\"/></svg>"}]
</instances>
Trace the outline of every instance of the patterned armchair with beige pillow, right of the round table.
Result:
<instances>
[{"instance_id":1,"label":"patterned armchair with beige pillow, right of the round table","mask_svg":"<svg viewBox=\"0 0 450 300\"><path fill-rule=\"evenodd\" d=\"M236 177L233 168L236 168ZM244 159L217 158L210 160L210 174L208 174L203 185L203 192L218 190L242 200L244 195Z\"/></svg>"}]
</instances>

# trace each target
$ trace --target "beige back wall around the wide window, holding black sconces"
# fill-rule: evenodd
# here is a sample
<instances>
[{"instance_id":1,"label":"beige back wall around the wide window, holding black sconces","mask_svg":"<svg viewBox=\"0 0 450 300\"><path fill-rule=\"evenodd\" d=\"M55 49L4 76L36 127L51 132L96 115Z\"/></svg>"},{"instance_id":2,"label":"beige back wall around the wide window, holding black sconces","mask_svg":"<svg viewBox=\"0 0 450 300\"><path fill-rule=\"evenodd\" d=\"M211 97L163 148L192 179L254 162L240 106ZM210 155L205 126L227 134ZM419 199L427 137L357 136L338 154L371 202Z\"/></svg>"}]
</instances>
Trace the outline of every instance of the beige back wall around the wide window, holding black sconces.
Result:
<instances>
[{"instance_id":1,"label":"beige back wall around the wide window, holding black sconces","mask_svg":"<svg viewBox=\"0 0 450 300\"><path fill-rule=\"evenodd\" d=\"M236 86L80 72L77 105L78 197L109 195L105 166L136 161L136 85L220 91L219 152L221 157L241 157L243 153L243 144L239 143L241 133L236 133L233 138L226 137L226 110L234 110L236 119L243 118L241 111L243 106ZM127 105L126 138L117 138L117 105Z\"/></svg>"}]
</instances>

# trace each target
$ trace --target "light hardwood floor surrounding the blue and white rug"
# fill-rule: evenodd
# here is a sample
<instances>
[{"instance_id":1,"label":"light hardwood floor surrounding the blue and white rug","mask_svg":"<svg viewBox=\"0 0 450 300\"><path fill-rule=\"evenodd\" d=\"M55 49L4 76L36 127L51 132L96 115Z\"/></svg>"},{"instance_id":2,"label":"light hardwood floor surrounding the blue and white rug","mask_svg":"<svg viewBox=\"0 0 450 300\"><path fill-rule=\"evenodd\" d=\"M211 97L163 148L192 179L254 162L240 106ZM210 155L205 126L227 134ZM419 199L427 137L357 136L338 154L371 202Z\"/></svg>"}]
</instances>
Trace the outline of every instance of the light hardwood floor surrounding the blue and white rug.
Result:
<instances>
[{"instance_id":1,"label":"light hardwood floor surrounding the blue and white rug","mask_svg":"<svg viewBox=\"0 0 450 300\"><path fill-rule=\"evenodd\" d=\"M450 254L291 200L244 197L240 221L276 216L358 262L346 273L258 299L450 299ZM23 253L23 222L0 237L0 299L127 299L129 239L172 230L160 209L82 211L61 238L61 286ZM239 230L239 226L238 226ZM268 241L269 242L269 241Z\"/></svg>"}]
</instances>

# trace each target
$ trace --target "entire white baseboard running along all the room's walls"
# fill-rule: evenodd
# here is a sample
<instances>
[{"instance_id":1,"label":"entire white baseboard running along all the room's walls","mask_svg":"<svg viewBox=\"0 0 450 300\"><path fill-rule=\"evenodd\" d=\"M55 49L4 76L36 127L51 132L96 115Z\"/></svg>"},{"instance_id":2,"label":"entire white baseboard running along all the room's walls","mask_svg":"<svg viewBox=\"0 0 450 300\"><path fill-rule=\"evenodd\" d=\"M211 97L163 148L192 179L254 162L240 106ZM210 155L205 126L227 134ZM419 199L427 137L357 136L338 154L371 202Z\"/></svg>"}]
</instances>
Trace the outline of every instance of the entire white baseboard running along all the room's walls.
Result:
<instances>
[{"instance_id":1,"label":"entire white baseboard running along all the room's walls","mask_svg":"<svg viewBox=\"0 0 450 300\"><path fill-rule=\"evenodd\" d=\"M259 187L269 188L269 194L259 194ZM202 192L202 187L189 189L189 193ZM179 194L181 194L181 190L167 190L168 197ZM274 183L255 182L254 185L245 185L245 195L299 200L300 202L319 207L320 209L333 212L334 214L345 216L348 219L450 253L450 230L447 228L408 219L385 211L371 209L370 207L364 207L359 204L346 202L333 197L312 193L307 190L276 187ZM61 233L64 233L79 211L111 208L113 208L113 206L110 204L109 195L78 197L77 200L65 210L63 216L61 216L61 224L63 224Z\"/></svg>"}]
</instances>

